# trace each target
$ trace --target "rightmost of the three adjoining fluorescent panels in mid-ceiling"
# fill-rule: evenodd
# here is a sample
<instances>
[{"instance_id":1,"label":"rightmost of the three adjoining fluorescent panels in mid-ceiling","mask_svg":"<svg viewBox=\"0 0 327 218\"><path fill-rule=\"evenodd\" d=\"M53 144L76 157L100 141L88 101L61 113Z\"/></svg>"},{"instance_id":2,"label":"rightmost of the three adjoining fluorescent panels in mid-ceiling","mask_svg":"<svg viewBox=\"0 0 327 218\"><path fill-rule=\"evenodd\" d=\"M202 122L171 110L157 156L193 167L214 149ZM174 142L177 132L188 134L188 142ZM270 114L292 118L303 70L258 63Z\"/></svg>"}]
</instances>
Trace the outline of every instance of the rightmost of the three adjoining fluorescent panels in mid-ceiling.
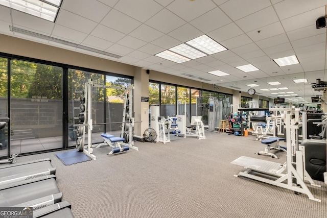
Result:
<instances>
[{"instance_id":1,"label":"rightmost of the three adjoining fluorescent panels in mid-ceiling","mask_svg":"<svg viewBox=\"0 0 327 218\"><path fill-rule=\"evenodd\" d=\"M212 38L208 37L207 35L199 36L185 43L195 47L196 49L208 55L227 50L224 46L222 46Z\"/></svg>"}]
</instances>

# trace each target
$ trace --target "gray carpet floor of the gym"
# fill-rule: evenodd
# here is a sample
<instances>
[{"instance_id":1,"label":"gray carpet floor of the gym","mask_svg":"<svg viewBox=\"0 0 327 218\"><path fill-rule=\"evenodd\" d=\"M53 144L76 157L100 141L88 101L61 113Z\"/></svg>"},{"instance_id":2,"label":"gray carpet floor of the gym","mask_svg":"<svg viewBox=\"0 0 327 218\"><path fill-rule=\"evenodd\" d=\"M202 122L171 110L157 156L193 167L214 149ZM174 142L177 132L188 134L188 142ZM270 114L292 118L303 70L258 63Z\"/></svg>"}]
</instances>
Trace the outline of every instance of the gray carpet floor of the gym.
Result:
<instances>
[{"instance_id":1,"label":"gray carpet floor of the gym","mask_svg":"<svg viewBox=\"0 0 327 218\"><path fill-rule=\"evenodd\" d=\"M284 163L256 155L264 144L242 137L205 131L206 139L171 136L171 143L137 142L139 151L64 166L54 154L19 157L18 161L51 158L63 200L76 217L327 217L327 192L308 185L321 203L281 187L233 175L244 171L230 162L240 156ZM286 142L282 142L286 146ZM69 150L68 150L69 151ZM66 151L62 151L66 152Z\"/></svg>"}]
</instances>

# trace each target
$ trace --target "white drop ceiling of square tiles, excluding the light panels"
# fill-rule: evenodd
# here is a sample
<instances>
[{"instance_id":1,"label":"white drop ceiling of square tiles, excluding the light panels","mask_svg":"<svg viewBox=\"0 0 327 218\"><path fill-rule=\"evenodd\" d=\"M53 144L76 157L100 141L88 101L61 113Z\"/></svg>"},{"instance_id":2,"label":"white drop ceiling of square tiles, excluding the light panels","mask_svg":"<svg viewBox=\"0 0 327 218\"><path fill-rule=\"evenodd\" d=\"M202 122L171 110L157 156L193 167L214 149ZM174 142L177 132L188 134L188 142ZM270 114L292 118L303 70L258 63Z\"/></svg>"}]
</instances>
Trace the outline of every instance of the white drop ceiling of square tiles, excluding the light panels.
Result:
<instances>
[{"instance_id":1,"label":"white drop ceiling of square tiles, excluding the light panels","mask_svg":"<svg viewBox=\"0 0 327 218\"><path fill-rule=\"evenodd\" d=\"M0 6L0 33L216 87L246 92L247 85L257 84L256 93L269 98L294 92L311 102L322 91L310 83L327 81L326 29L316 29L325 5L327 0L63 0L55 22ZM14 32L10 26L79 46ZM155 56L204 34L227 50L180 64ZM292 55L299 64L279 67L273 61ZM247 64L260 70L236 68ZM229 75L207 73L215 70ZM308 83L293 81L303 78ZM276 81L281 84L267 83ZM261 90L283 87L288 89Z\"/></svg>"}]
</instances>

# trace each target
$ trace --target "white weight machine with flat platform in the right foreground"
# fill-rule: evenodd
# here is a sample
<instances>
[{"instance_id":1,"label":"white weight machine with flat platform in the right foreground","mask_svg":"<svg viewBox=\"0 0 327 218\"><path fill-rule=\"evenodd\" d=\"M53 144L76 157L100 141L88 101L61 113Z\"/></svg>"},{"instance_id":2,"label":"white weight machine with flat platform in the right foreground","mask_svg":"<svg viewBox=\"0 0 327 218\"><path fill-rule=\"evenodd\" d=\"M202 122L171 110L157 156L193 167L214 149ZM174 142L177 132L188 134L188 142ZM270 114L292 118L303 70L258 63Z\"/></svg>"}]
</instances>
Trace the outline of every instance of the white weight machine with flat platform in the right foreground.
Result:
<instances>
[{"instance_id":1,"label":"white weight machine with flat platform in the right foreground","mask_svg":"<svg viewBox=\"0 0 327 218\"><path fill-rule=\"evenodd\" d=\"M240 172L236 177L246 177L253 180L265 182L271 185L293 190L294 193L304 193L309 199L321 202L316 199L305 181L311 185L314 183L306 169L303 167L303 152L298 145L299 116L293 108L289 108L291 113L286 114L286 137L287 137L287 160L284 164L271 161L242 156L233 160L231 163L246 168L246 171ZM293 118L294 116L294 118ZM263 175L263 176L261 176Z\"/></svg>"}]
</instances>

